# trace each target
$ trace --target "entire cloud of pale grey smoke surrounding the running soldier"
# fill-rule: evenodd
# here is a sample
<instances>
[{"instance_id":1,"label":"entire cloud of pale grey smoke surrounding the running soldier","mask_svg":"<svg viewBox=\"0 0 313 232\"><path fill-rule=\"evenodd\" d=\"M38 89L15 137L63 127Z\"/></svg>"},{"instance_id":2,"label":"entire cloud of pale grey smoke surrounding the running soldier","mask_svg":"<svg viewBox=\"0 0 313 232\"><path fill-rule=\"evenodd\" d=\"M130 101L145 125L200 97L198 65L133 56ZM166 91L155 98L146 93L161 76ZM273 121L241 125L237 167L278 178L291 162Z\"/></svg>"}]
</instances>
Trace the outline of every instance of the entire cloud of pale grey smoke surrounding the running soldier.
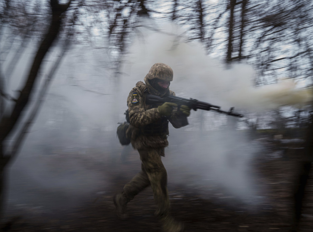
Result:
<instances>
[{"instance_id":1,"label":"entire cloud of pale grey smoke surrounding the running soldier","mask_svg":"<svg viewBox=\"0 0 313 232\"><path fill-rule=\"evenodd\" d=\"M122 74L117 81L111 79L106 50L79 47L67 55L25 141L20 154L24 158L13 164L10 201L23 203L23 193L14 184L21 176L28 177L25 182L33 183L24 185L26 189L38 186L47 191L58 189L64 194L80 195L96 191L101 178L105 189L108 185L99 172L72 161L73 155L65 159L62 154L86 155L95 162L102 157L107 162L118 159L121 145L116 138L116 127L125 120L127 96L156 62L172 67L174 80L170 88L177 96L198 98L224 110L232 106L238 110L265 110L284 104L305 104L312 99L310 92L298 89L289 79L253 87L255 71L251 66L237 64L226 69L221 62L207 56L200 43L187 42L186 33L174 24L156 26L147 21L143 25L123 58ZM17 76L24 72L15 72L10 91L18 89L21 82ZM227 190L223 194L246 201L251 199L249 196L257 195L248 173L258 147L242 132L228 129L226 116L192 111L188 120L189 125L184 128L170 126L170 146L163 159L169 186L185 184L191 189L202 189L205 194L222 186ZM96 151L89 153L91 148ZM60 154L59 158L52 157ZM51 157L42 158L47 155ZM51 164L54 169L51 160L59 160ZM71 171L64 171L64 165ZM63 171L56 174L58 166ZM38 198L34 193L33 200Z\"/></svg>"}]
</instances>

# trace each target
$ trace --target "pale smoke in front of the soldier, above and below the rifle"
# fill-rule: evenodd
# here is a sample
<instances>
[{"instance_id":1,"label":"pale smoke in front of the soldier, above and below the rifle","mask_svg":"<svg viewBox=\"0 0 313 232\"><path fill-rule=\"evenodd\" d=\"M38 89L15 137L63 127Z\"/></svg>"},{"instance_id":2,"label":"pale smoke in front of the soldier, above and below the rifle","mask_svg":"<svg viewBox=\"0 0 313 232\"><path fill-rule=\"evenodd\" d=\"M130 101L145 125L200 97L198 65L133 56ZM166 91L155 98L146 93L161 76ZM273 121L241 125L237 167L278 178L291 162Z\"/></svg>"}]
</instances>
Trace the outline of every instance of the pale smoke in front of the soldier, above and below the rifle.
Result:
<instances>
[{"instance_id":1,"label":"pale smoke in front of the soldier, above and below the rifle","mask_svg":"<svg viewBox=\"0 0 313 232\"><path fill-rule=\"evenodd\" d=\"M251 66L234 64L226 68L206 55L199 42L187 42L184 31L174 24L156 26L145 21L144 25L123 67L122 101L157 62L172 67L170 88L177 96L197 98L224 110L234 106L237 110L264 112L282 105L303 106L312 100L312 92L298 88L291 79L254 87L256 74ZM258 144L251 143L243 131L227 128L228 119L221 115L192 111L188 119L186 127L170 128L170 146L163 159L169 183L183 183L204 192L219 186L226 189L223 194L255 202L254 197L260 193L249 173L253 155L261 149Z\"/></svg>"}]
</instances>

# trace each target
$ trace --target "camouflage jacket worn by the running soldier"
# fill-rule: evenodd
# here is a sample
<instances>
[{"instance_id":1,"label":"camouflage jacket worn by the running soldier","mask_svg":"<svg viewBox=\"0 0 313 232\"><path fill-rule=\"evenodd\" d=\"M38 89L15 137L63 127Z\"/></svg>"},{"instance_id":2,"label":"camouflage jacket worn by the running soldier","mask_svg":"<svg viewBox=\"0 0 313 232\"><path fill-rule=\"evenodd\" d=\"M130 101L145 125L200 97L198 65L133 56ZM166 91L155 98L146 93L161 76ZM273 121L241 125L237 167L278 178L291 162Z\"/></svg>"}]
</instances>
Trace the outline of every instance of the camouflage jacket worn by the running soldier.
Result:
<instances>
[{"instance_id":1,"label":"camouflage jacket worn by the running soldier","mask_svg":"<svg viewBox=\"0 0 313 232\"><path fill-rule=\"evenodd\" d=\"M131 144L135 149L164 148L168 146L168 122L174 128L180 128L188 124L187 118L177 108L173 109L170 117L165 117L160 115L157 108L161 104L147 105L146 94L159 96L160 94L149 85L146 78L144 80L147 84L137 82L127 98ZM166 94L175 96L171 90Z\"/></svg>"}]
</instances>

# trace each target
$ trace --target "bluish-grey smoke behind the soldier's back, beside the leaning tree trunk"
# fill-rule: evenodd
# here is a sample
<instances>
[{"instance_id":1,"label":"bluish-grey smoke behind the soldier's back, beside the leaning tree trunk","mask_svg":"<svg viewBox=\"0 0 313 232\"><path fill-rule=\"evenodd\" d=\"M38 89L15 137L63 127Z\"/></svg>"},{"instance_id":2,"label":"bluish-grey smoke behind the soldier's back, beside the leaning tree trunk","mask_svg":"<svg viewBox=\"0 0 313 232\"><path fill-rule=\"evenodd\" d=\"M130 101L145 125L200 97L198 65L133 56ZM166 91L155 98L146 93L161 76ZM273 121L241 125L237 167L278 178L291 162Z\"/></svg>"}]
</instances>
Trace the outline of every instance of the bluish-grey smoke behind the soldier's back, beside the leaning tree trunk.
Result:
<instances>
[{"instance_id":1,"label":"bluish-grey smoke behind the soldier's back, beside the leaning tree trunk","mask_svg":"<svg viewBox=\"0 0 313 232\"><path fill-rule=\"evenodd\" d=\"M22 206L30 211L40 207L38 215L73 210L82 198L92 198L109 186L100 165L109 162L120 146L109 110L113 94L105 66L107 56L102 53L99 58L100 52L90 49L85 49L83 56L80 49L84 50L71 50L64 58L21 152L8 170L7 212L19 211ZM24 83L33 50L27 49L10 78L7 88L12 95ZM42 79L56 55L59 53L51 52L45 57L39 74ZM101 61L102 66L97 64ZM29 109L42 82L35 85Z\"/></svg>"}]
</instances>

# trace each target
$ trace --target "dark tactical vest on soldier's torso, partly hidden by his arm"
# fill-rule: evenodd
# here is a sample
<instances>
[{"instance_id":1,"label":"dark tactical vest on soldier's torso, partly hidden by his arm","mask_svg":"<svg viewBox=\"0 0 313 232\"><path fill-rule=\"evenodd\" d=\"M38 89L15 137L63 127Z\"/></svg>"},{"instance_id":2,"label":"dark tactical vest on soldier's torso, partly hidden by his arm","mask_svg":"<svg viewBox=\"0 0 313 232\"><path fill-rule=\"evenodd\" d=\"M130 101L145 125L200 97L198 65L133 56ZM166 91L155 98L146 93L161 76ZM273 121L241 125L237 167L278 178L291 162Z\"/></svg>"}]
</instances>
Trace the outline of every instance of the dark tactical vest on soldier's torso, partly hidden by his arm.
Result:
<instances>
[{"instance_id":1,"label":"dark tactical vest on soldier's torso, partly hidden by his arm","mask_svg":"<svg viewBox=\"0 0 313 232\"><path fill-rule=\"evenodd\" d=\"M148 90L147 90L146 84L140 81L140 82L137 82L136 87L137 87L137 89L140 90L141 96L143 97L143 105L144 105L145 110L156 108L156 107L162 105L162 103L147 105L146 104L146 95L148 93ZM162 116L157 121L150 123L148 125L145 125L145 126L141 127L140 129L141 129L141 133L146 135L146 136L168 134L167 117Z\"/></svg>"}]
</instances>

